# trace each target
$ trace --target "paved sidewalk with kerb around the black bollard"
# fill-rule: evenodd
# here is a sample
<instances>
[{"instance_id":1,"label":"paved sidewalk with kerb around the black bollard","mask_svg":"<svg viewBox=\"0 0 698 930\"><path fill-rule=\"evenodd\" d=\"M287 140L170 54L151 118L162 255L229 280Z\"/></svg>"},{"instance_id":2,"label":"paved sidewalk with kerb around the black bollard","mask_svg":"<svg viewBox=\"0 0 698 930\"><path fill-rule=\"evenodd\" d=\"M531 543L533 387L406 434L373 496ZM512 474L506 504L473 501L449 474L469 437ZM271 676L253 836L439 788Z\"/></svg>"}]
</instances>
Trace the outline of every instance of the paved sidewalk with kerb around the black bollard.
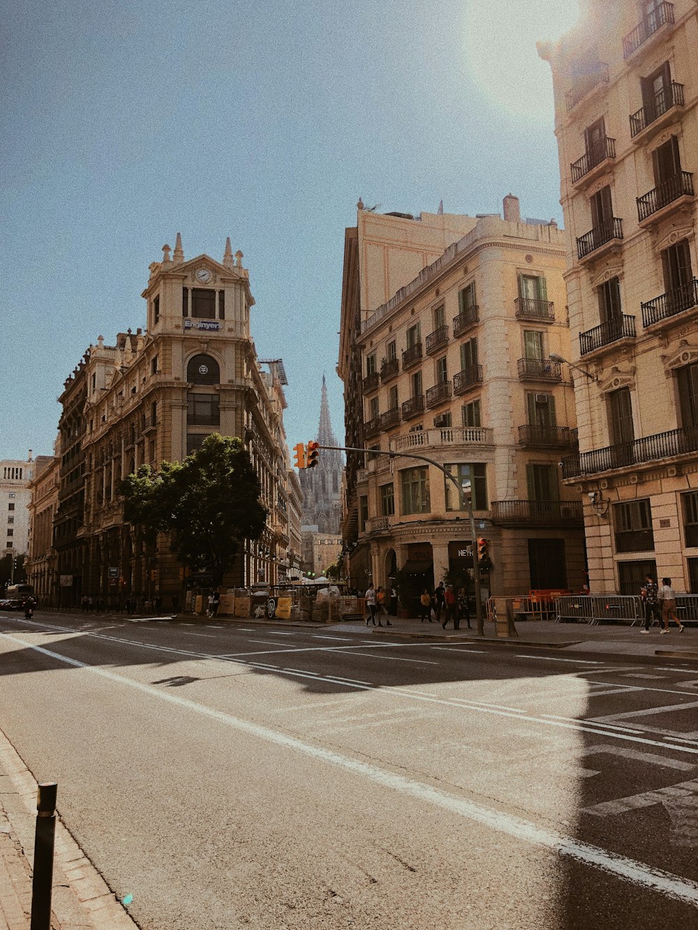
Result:
<instances>
[{"instance_id":1,"label":"paved sidewalk with kerb around the black bollard","mask_svg":"<svg viewBox=\"0 0 698 930\"><path fill-rule=\"evenodd\" d=\"M60 785L59 785L60 811ZM27 930L32 907L36 782L0 730L0 930ZM56 823L51 930L134 930L73 836Z\"/></svg>"}]
</instances>

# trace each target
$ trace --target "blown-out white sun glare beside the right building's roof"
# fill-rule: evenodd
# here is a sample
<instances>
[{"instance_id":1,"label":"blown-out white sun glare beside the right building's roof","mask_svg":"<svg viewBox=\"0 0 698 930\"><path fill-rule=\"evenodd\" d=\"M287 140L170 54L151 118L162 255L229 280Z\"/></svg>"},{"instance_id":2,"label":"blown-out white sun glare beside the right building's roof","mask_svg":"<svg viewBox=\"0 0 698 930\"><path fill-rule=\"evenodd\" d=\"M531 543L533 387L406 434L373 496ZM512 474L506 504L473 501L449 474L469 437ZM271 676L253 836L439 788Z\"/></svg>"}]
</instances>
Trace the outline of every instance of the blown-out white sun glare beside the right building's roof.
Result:
<instances>
[{"instance_id":1,"label":"blown-out white sun glare beside the right building's roof","mask_svg":"<svg viewBox=\"0 0 698 930\"><path fill-rule=\"evenodd\" d=\"M558 39L579 19L579 0L471 0L465 52L492 103L530 120L553 118L550 67L536 42Z\"/></svg>"}]
</instances>

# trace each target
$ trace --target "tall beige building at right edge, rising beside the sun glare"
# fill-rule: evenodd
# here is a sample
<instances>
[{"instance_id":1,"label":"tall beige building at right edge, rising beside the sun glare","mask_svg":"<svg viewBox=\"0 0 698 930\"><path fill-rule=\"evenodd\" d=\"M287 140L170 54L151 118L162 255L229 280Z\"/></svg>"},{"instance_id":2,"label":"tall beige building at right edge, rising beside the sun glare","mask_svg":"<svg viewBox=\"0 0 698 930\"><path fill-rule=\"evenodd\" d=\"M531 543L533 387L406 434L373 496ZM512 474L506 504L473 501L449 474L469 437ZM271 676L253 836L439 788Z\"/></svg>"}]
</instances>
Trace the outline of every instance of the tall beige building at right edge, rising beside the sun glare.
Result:
<instances>
[{"instance_id":1,"label":"tall beige building at right edge, rising beside the sun glare","mask_svg":"<svg viewBox=\"0 0 698 930\"><path fill-rule=\"evenodd\" d=\"M555 46L571 360L592 590L698 592L698 7L591 0Z\"/></svg>"}]
</instances>

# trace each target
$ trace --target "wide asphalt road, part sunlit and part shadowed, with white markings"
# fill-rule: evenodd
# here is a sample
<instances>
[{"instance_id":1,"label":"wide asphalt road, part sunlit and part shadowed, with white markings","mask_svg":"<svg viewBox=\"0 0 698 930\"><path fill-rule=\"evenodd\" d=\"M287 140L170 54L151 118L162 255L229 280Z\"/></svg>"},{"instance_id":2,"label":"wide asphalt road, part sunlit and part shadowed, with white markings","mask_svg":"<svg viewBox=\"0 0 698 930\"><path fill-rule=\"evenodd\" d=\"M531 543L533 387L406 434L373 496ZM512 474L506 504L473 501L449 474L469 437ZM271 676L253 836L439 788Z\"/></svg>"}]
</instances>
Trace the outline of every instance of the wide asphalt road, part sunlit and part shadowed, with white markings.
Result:
<instances>
[{"instance_id":1,"label":"wide asphalt road, part sunlit and part shadowed, with white markings","mask_svg":"<svg viewBox=\"0 0 698 930\"><path fill-rule=\"evenodd\" d=\"M0 615L0 728L143 930L698 926L698 667Z\"/></svg>"}]
</instances>

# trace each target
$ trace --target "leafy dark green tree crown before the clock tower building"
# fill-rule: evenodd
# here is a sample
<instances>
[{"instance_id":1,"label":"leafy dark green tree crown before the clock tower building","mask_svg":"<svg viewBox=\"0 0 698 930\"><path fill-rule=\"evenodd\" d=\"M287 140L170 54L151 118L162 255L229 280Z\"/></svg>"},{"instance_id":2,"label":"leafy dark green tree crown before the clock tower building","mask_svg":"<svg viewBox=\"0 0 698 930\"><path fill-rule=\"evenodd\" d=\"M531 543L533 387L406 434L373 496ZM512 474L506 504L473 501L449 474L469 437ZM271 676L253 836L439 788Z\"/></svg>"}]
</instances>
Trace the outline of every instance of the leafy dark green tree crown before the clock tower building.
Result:
<instances>
[{"instance_id":1,"label":"leafy dark green tree crown before the clock tower building","mask_svg":"<svg viewBox=\"0 0 698 930\"><path fill-rule=\"evenodd\" d=\"M169 534L169 548L182 565L206 570L214 584L233 565L244 539L262 535L267 512L260 483L239 439L214 432L183 462L149 465L120 485L124 518L146 538Z\"/></svg>"}]
</instances>

